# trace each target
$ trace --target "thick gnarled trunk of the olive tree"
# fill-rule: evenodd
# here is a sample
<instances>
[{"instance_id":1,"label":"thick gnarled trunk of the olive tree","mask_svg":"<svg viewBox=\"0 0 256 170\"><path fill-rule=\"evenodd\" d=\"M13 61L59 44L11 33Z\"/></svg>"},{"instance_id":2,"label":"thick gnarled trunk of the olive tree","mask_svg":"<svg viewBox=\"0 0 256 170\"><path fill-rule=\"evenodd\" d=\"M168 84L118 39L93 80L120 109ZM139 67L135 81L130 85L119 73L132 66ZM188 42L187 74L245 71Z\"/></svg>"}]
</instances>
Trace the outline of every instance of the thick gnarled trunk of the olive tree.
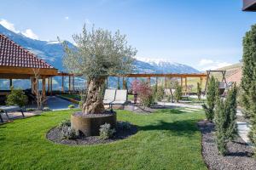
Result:
<instances>
[{"instance_id":1,"label":"thick gnarled trunk of the olive tree","mask_svg":"<svg viewBox=\"0 0 256 170\"><path fill-rule=\"evenodd\" d=\"M89 80L87 97L83 105L83 112L85 115L104 113L105 109L101 97L101 88L104 82L104 77Z\"/></svg>"}]
</instances>

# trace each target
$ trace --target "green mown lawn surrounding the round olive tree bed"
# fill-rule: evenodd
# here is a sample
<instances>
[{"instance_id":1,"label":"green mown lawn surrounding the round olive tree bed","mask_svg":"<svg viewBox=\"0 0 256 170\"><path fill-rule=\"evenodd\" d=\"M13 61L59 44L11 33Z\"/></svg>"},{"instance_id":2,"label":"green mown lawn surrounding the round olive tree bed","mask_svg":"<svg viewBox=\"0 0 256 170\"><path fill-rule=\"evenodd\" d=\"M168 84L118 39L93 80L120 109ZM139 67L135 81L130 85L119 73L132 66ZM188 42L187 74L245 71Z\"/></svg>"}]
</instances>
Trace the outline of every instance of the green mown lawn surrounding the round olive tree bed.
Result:
<instances>
[{"instance_id":1,"label":"green mown lawn surrounding the round olive tree bed","mask_svg":"<svg viewBox=\"0 0 256 170\"><path fill-rule=\"evenodd\" d=\"M138 127L112 144L67 146L45 134L72 111L46 112L0 126L0 169L207 169L201 156L201 112L160 110L151 115L117 111Z\"/></svg>"}]
</instances>

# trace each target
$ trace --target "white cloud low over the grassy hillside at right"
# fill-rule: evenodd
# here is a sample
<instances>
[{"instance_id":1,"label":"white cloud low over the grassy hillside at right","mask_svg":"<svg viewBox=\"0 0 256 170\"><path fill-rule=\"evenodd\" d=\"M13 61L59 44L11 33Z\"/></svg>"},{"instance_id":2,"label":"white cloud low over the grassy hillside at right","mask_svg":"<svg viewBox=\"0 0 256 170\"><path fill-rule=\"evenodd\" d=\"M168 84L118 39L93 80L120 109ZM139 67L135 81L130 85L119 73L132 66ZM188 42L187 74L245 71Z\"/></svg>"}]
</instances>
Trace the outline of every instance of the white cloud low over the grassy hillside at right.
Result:
<instances>
[{"instance_id":1,"label":"white cloud low over the grassy hillside at right","mask_svg":"<svg viewBox=\"0 0 256 170\"><path fill-rule=\"evenodd\" d=\"M218 68L222 68L228 65L231 65L231 64L228 62L212 60L212 59L201 59L199 62L201 71L216 70Z\"/></svg>"}]
</instances>

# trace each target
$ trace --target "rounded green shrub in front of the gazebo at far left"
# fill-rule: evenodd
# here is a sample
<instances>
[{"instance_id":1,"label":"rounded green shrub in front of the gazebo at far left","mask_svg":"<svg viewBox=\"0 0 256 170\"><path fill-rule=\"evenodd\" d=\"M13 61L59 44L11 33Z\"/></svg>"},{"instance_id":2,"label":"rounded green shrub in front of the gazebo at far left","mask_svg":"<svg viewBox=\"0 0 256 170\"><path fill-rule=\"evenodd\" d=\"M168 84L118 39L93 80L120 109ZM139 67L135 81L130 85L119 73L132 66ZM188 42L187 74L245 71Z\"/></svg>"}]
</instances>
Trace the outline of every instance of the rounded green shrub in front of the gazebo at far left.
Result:
<instances>
[{"instance_id":1,"label":"rounded green shrub in front of the gazebo at far left","mask_svg":"<svg viewBox=\"0 0 256 170\"><path fill-rule=\"evenodd\" d=\"M6 99L6 105L19 105L23 107L27 104L27 101L27 97L21 88L15 89L11 87L11 92Z\"/></svg>"}]
</instances>

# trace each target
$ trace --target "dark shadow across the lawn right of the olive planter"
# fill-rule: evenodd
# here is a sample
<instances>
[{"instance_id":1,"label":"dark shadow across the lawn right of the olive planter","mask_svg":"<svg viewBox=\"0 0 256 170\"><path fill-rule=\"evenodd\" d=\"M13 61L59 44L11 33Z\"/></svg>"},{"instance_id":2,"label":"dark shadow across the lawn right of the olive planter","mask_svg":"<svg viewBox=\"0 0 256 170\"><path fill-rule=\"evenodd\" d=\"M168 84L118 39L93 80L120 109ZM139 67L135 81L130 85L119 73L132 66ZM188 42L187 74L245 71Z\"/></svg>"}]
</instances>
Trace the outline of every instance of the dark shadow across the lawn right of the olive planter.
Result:
<instances>
[{"instance_id":1,"label":"dark shadow across the lawn right of the olive planter","mask_svg":"<svg viewBox=\"0 0 256 170\"><path fill-rule=\"evenodd\" d=\"M199 132L199 128L196 126L198 120L183 120L176 122L164 122L159 121L153 125L139 126L139 131L154 131L154 130L166 130L171 131L172 134L177 136L191 136L196 132Z\"/></svg>"}]
</instances>

